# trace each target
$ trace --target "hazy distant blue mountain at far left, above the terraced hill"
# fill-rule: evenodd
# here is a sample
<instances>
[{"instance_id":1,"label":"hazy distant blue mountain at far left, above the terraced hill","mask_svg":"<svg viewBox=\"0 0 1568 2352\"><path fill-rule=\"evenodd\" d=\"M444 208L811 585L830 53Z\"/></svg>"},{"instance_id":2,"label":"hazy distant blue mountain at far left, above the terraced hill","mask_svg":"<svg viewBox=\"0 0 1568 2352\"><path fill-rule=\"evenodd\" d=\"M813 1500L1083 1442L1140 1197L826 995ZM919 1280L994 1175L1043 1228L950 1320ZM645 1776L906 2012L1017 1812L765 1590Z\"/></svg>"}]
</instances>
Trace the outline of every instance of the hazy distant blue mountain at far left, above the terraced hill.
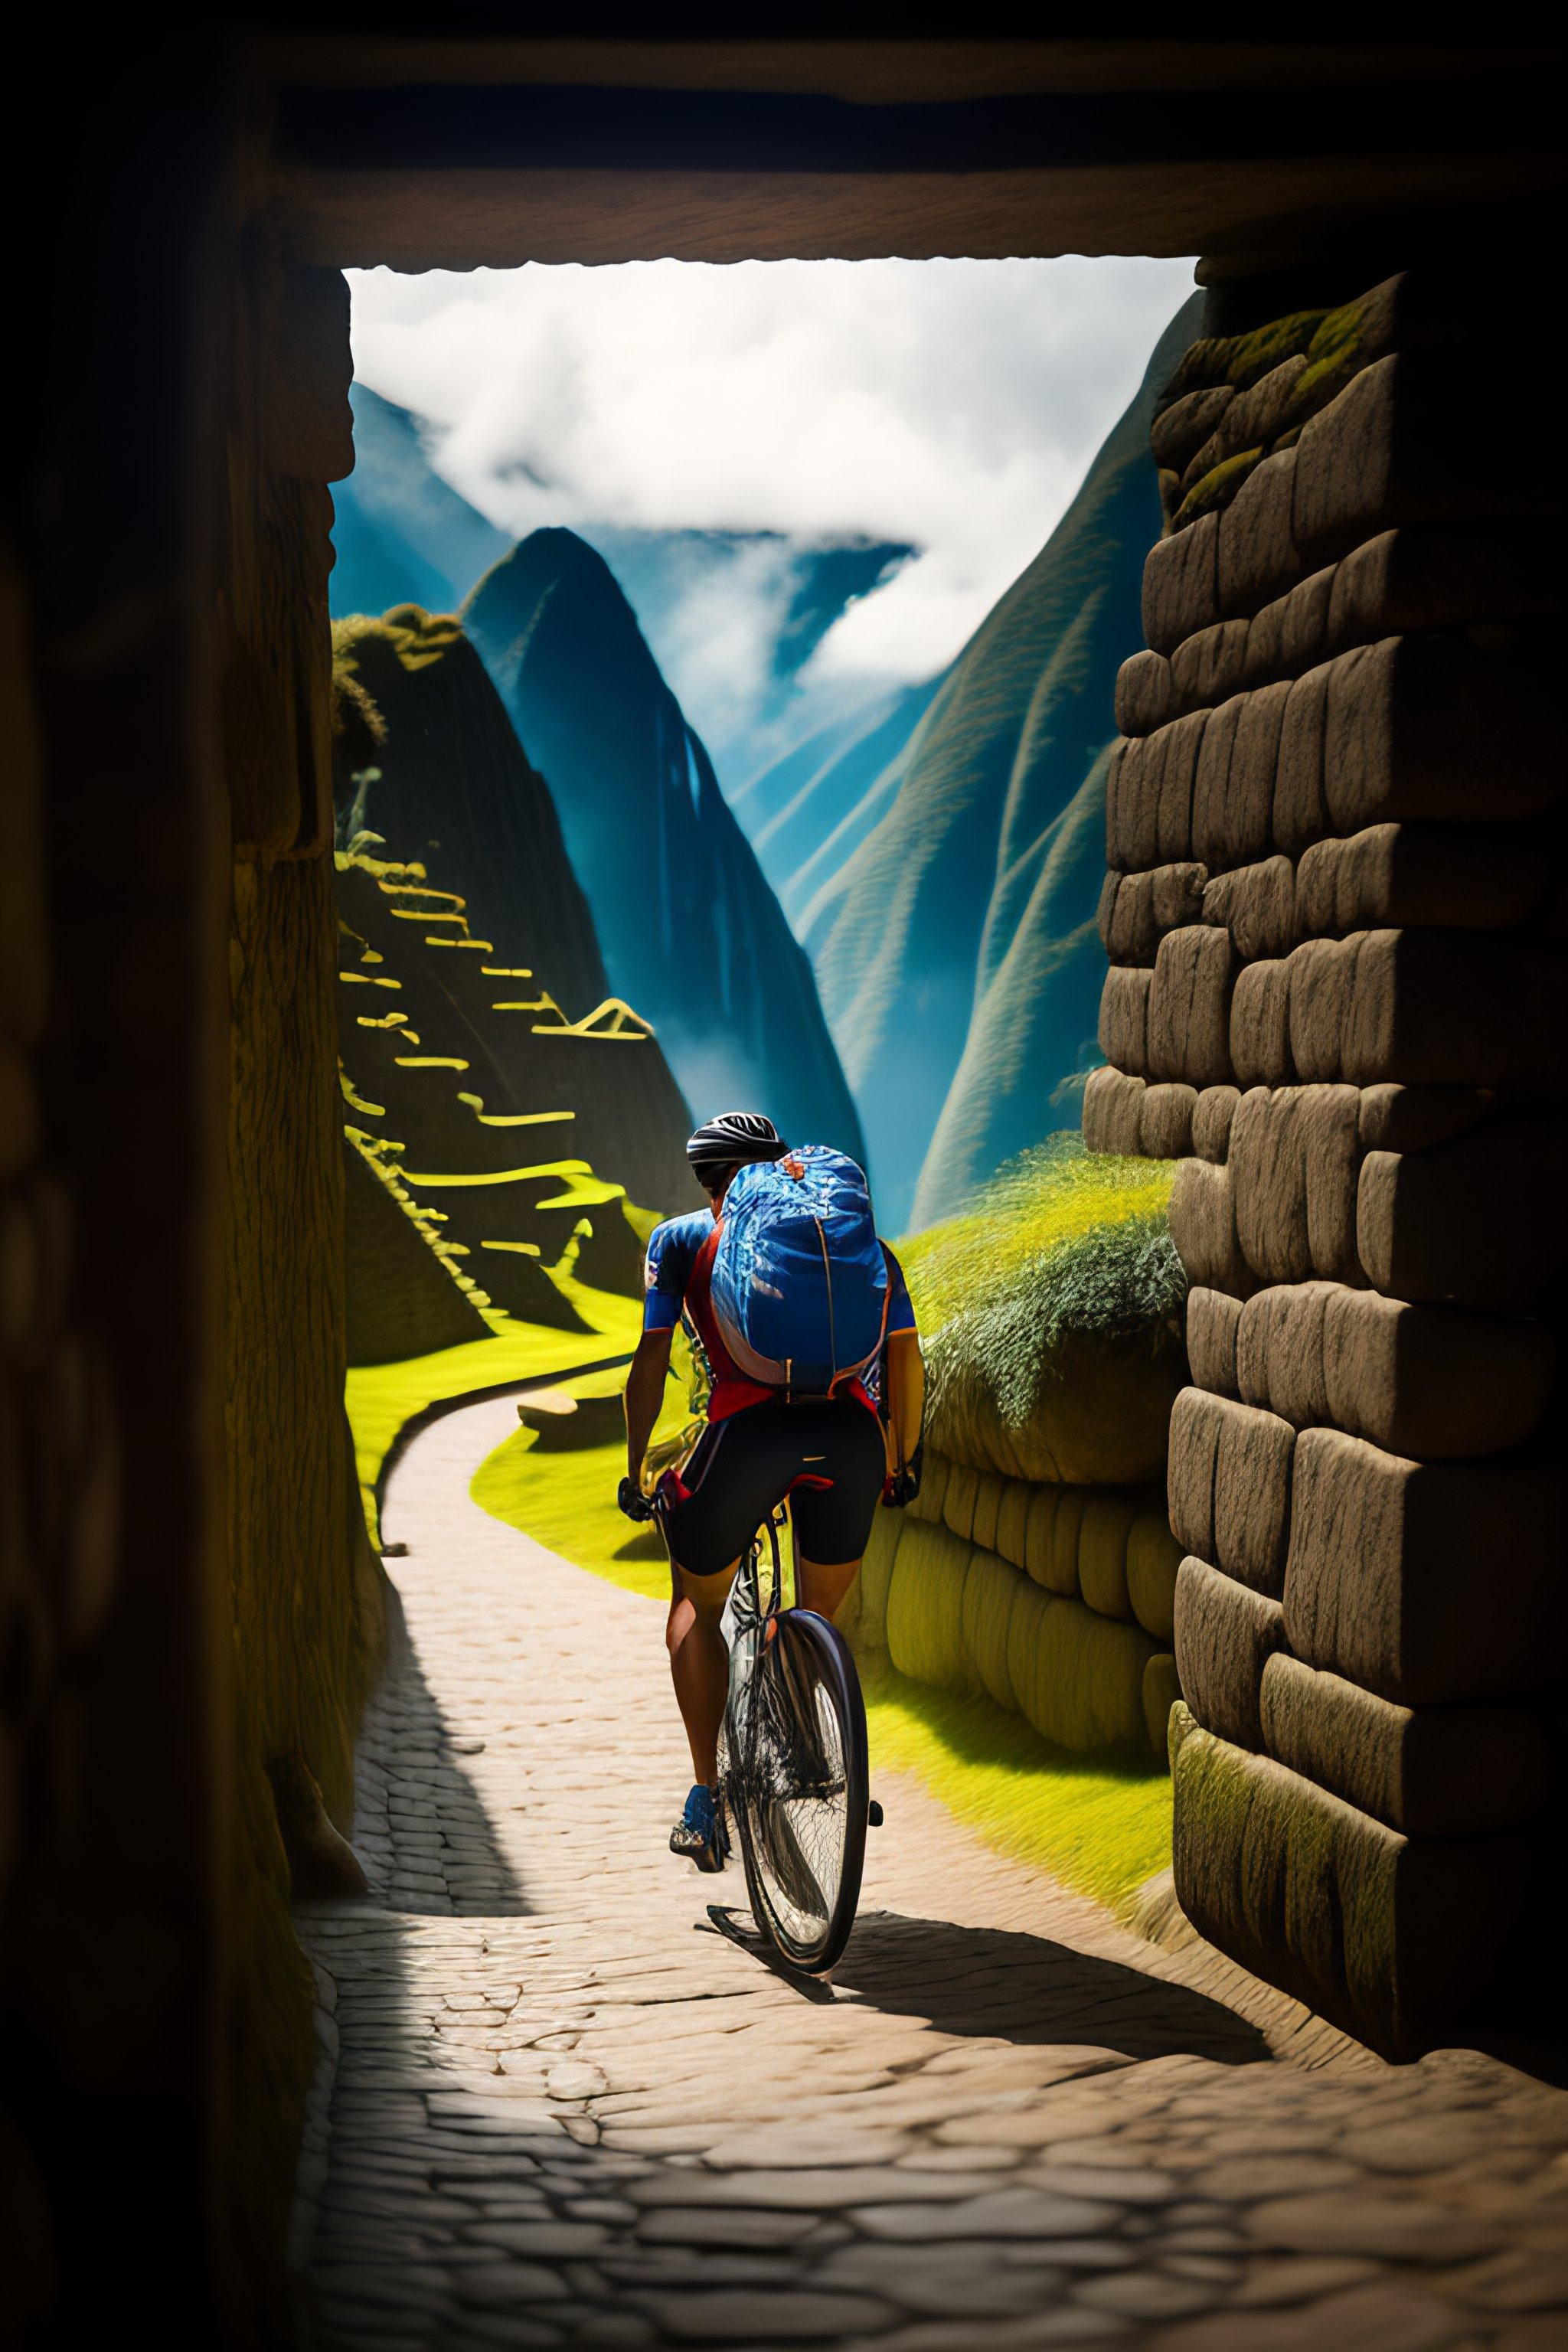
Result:
<instances>
[{"instance_id":1,"label":"hazy distant blue mountain at far left, above the terraced hill","mask_svg":"<svg viewBox=\"0 0 1568 2352\"><path fill-rule=\"evenodd\" d=\"M388 604L456 612L480 574L505 555L505 534L442 482L407 409L369 383L355 383L348 397L355 470L331 489L334 621Z\"/></svg>"}]
</instances>

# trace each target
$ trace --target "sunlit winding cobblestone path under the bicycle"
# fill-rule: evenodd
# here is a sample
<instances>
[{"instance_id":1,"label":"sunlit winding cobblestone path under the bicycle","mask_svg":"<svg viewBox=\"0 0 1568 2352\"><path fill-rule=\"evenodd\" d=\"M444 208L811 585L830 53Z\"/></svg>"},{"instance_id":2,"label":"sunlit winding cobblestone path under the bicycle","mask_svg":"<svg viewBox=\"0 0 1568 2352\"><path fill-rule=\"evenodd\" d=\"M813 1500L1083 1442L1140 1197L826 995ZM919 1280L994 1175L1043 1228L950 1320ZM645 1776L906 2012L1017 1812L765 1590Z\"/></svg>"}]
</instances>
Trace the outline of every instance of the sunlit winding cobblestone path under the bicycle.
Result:
<instances>
[{"instance_id":1,"label":"sunlit winding cobblestone path under the bicycle","mask_svg":"<svg viewBox=\"0 0 1568 2352\"><path fill-rule=\"evenodd\" d=\"M1561 2091L1385 2067L907 1780L832 1999L708 1931L745 1893L665 1851L663 1611L468 1501L512 1428L451 1414L390 1484L374 1896L301 1915L317 2345L1563 2352Z\"/></svg>"}]
</instances>

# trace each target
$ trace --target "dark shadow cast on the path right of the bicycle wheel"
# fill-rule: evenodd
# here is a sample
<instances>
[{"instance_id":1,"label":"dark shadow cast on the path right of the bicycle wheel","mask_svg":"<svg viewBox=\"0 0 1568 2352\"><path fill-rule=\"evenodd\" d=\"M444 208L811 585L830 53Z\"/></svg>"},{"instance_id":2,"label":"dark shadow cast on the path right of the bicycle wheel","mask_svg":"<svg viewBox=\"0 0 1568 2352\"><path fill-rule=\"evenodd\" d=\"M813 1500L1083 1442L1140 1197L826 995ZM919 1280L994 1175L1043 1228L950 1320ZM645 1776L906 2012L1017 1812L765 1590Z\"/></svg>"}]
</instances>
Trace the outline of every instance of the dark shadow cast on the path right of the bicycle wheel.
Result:
<instances>
[{"instance_id":1,"label":"dark shadow cast on the path right of the bicycle wheel","mask_svg":"<svg viewBox=\"0 0 1568 2352\"><path fill-rule=\"evenodd\" d=\"M1208 1994L1041 1936L863 1912L835 1985L950 2034L1091 2042L1126 2058L1272 2058L1265 2037Z\"/></svg>"}]
</instances>

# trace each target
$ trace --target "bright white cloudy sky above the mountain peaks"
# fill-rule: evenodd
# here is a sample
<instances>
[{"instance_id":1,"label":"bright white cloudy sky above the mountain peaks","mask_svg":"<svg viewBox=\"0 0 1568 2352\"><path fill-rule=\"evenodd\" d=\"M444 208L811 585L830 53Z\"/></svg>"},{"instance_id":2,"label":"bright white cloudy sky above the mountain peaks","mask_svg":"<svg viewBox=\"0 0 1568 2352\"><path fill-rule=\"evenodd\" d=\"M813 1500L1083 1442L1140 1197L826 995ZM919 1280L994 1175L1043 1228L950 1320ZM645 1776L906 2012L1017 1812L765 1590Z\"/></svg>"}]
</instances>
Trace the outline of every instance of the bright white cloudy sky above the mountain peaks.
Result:
<instances>
[{"instance_id":1,"label":"bright white cloudy sky above the mountain peaks","mask_svg":"<svg viewBox=\"0 0 1568 2352\"><path fill-rule=\"evenodd\" d=\"M1065 513L1192 263L529 263L350 287L355 372L428 419L437 470L515 536L599 522L912 543L802 680L844 691L952 661ZM693 609L672 640L698 727L778 619L778 564L755 581L736 574L724 609Z\"/></svg>"}]
</instances>

